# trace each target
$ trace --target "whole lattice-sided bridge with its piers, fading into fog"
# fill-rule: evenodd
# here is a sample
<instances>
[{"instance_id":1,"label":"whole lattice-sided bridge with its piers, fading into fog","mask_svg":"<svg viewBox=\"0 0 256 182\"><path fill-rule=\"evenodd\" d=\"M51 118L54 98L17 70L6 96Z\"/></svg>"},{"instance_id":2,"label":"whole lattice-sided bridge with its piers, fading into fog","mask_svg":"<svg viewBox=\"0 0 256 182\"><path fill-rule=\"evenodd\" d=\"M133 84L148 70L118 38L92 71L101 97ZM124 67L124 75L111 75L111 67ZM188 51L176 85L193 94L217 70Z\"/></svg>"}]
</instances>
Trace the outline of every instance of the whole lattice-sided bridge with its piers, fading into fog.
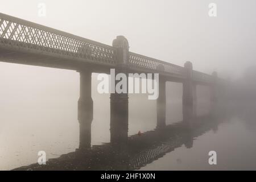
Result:
<instances>
[{"instance_id":1,"label":"whole lattice-sided bridge with its piers, fading into fog","mask_svg":"<svg viewBox=\"0 0 256 182\"><path fill-rule=\"evenodd\" d=\"M0 13L0 61L71 69L80 73L78 120L80 149L91 147L93 100L92 73L159 73L156 127L166 127L166 82L183 84L184 121L195 117L196 85L209 85L211 101L216 103L223 80L217 73L207 75L193 70L191 62L184 67L129 51L124 36L117 36L112 46L68 34L27 20ZM128 94L110 96L110 133L112 144L128 141Z\"/></svg>"}]
</instances>

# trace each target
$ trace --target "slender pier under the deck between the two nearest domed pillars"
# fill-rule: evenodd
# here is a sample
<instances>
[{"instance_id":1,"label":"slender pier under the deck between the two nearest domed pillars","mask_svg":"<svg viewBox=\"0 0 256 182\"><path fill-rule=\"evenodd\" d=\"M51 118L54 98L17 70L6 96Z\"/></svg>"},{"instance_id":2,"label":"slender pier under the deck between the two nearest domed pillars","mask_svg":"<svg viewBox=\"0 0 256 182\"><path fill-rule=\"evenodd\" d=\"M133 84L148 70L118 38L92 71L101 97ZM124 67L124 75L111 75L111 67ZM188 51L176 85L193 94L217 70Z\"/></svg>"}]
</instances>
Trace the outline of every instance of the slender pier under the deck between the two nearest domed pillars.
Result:
<instances>
[{"instance_id":1,"label":"slender pier under the deck between the two nearest domed pillars","mask_svg":"<svg viewBox=\"0 0 256 182\"><path fill-rule=\"evenodd\" d=\"M156 128L166 126L166 80L159 78L159 96L156 101L157 124Z\"/></svg>"}]
</instances>

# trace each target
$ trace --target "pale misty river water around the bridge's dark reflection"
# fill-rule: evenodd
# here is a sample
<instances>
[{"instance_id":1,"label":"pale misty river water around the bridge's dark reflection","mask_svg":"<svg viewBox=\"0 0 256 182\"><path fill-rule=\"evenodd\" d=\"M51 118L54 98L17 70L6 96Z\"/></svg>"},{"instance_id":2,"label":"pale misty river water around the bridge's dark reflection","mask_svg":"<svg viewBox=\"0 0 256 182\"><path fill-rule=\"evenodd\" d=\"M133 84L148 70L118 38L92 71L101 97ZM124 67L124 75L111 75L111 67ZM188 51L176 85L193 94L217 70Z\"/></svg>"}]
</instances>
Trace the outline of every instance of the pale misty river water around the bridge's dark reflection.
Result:
<instances>
[{"instance_id":1,"label":"pale misty river water around the bridge's dark reflection","mask_svg":"<svg viewBox=\"0 0 256 182\"><path fill-rule=\"evenodd\" d=\"M3 66L0 73L0 170L36 163L38 151L46 151L47 159L75 151L79 147L79 74L15 64ZM97 94L96 88L96 75L93 75L92 144L100 145L110 142L110 108L109 95ZM181 98L182 85L168 82L167 125L182 121ZM198 86L197 99L197 115L207 115L209 89ZM138 169L255 170L256 117L253 110L246 111L218 118L215 127L193 137L191 147L182 144ZM155 126L156 101L147 100L146 94L130 95L129 135L138 131L143 135ZM209 151L216 151L217 165L209 165Z\"/></svg>"}]
</instances>

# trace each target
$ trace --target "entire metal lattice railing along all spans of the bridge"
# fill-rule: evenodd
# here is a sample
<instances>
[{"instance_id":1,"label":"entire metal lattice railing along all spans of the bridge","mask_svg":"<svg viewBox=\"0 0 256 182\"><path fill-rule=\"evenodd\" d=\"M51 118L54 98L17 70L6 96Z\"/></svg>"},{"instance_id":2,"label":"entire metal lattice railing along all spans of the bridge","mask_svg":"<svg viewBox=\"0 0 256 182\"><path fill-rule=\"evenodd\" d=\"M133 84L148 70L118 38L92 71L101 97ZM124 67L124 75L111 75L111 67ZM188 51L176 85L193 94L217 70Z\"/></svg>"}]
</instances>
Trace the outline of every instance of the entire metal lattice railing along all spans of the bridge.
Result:
<instances>
[{"instance_id":1,"label":"entire metal lattice railing along all spans of the bridge","mask_svg":"<svg viewBox=\"0 0 256 182\"><path fill-rule=\"evenodd\" d=\"M0 13L0 47L100 64L117 63L117 51L112 46L2 13ZM133 52L129 52L127 64L130 68L142 69L144 72L158 71L171 76L184 76L184 67ZM193 80L210 82L212 77L193 71Z\"/></svg>"}]
</instances>

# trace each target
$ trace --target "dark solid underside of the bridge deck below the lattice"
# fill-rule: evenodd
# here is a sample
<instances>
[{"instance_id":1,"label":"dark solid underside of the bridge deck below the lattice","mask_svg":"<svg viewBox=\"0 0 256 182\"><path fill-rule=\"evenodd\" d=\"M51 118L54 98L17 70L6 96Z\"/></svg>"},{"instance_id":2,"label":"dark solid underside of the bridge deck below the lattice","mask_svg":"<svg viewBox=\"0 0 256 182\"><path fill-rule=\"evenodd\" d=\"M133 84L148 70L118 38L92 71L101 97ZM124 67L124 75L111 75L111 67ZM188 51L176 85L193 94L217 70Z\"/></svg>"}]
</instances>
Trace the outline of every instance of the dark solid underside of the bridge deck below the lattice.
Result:
<instances>
[{"instance_id":1,"label":"dark solid underside of the bridge deck below the lattice","mask_svg":"<svg viewBox=\"0 0 256 182\"><path fill-rule=\"evenodd\" d=\"M0 47L0 61L5 63L32 65L37 67L48 67L57 69L69 69L73 71L90 70L93 73L106 73L110 74L110 69L116 68L116 65L101 64L96 61L79 60L72 58L63 58L57 55L47 55L44 53L28 52L18 49L9 49ZM129 73L159 73L159 71L143 71L139 68L127 68ZM164 77L164 80L171 82L183 82L184 78L179 75L171 75L170 73L159 73ZM198 84L205 84L204 82L198 82Z\"/></svg>"}]
</instances>

